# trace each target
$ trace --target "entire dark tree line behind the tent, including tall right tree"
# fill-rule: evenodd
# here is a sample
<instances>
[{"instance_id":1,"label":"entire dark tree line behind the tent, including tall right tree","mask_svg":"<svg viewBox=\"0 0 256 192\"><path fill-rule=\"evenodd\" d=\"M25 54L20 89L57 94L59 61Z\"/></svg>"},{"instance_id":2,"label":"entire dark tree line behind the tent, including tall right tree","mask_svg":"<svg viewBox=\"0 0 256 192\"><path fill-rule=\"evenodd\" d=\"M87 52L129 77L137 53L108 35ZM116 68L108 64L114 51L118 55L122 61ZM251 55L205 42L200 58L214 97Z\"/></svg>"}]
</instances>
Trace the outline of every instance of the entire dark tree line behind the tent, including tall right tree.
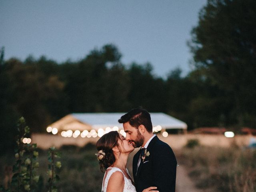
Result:
<instances>
[{"instance_id":1,"label":"entire dark tree line behind the tent, including tall right tree","mask_svg":"<svg viewBox=\"0 0 256 192\"><path fill-rule=\"evenodd\" d=\"M150 63L129 65L113 44L78 61L0 56L1 136L24 116L32 132L73 112L127 112L143 107L200 126L256 126L256 1L208 0L188 46L194 62L155 76ZM4 142L4 140L2 140Z\"/></svg>"}]
</instances>

